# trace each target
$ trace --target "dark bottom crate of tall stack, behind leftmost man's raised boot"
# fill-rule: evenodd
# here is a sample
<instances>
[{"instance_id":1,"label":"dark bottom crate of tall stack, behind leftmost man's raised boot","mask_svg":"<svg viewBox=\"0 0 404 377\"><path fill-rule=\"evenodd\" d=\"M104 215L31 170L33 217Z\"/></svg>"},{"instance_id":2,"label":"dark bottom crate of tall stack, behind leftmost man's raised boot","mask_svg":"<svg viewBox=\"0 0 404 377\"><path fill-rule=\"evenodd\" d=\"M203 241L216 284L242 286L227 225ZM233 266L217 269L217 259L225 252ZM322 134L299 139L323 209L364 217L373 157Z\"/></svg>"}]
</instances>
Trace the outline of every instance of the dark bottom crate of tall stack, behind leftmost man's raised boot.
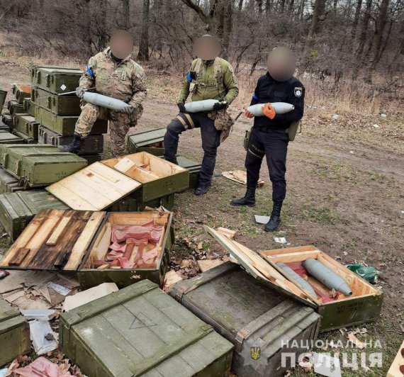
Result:
<instances>
[{"instance_id":1,"label":"dark bottom crate of tall stack, behind leftmost man's raised boot","mask_svg":"<svg viewBox=\"0 0 404 377\"><path fill-rule=\"evenodd\" d=\"M67 145L73 141L72 136L62 136L49 130L43 125L39 127L38 142L40 144ZM79 156L83 154L99 154L103 152L103 135L89 135L84 139L82 148L79 151Z\"/></svg>"}]
</instances>

